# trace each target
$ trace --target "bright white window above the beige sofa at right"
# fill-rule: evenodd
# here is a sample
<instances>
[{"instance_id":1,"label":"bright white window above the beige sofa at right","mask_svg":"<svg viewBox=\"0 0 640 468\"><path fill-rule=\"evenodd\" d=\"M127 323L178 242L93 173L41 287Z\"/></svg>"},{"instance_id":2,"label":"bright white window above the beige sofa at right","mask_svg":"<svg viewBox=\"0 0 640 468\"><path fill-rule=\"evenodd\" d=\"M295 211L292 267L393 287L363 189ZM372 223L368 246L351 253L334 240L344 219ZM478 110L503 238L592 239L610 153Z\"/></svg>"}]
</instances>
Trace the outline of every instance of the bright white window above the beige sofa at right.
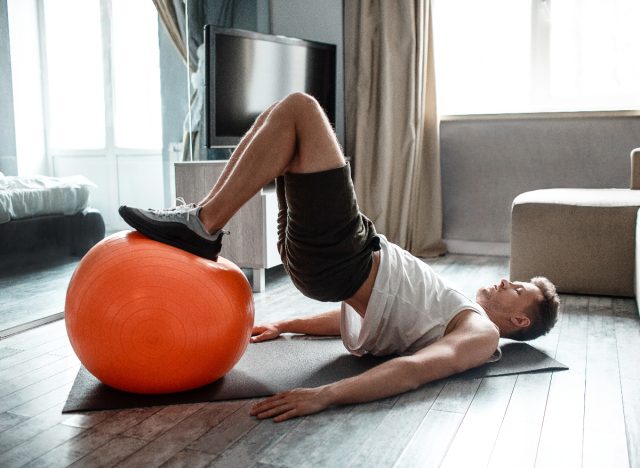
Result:
<instances>
[{"instance_id":1,"label":"bright white window above the beige sofa at right","mask_svg":"<svg viewBox=\"0 0 640 468\"><path fill-rule=\"evenodd\" d=\"M640 109L638 0L434 0L441 114Z\"/></svg>"}]
</instances>

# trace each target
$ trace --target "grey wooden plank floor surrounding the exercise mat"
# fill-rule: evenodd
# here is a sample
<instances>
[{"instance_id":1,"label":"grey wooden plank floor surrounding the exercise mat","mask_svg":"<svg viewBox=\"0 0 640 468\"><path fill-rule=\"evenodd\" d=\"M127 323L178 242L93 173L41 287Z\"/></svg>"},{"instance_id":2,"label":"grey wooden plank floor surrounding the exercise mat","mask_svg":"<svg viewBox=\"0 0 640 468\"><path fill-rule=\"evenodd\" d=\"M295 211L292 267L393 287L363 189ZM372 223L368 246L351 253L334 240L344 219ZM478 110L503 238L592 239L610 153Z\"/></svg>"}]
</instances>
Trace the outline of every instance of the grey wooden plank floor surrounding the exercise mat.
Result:
<instances>
[{"instance_id":1,"label":"grey wooden plank floor surrounding the exercise mat","mask_svg":"<svg viewBox=\"0 0 640 468\"><path fill-rule=\"evenodd\" d=\"M434 265L468 294L508 271L498 257ZM258 321L328 307L278 269L255 299ZM532 344L570 370L434 382L281 424L251 418L253 401L62 415L79 363L58 321L0 341L0 466L640 466L634 301L564 296Z\"/></svg>"}]
</instances>

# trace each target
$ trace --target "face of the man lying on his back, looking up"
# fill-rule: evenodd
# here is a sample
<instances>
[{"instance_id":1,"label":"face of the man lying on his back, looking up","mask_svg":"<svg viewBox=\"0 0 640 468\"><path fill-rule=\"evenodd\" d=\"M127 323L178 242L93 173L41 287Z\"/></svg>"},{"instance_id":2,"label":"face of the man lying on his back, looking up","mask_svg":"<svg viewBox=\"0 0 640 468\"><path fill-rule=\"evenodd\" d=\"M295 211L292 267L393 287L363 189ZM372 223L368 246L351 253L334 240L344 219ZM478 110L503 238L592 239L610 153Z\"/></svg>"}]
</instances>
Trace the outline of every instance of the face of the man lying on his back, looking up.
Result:
<instances>
[{"instance_id":1,"label":"face of the man lying on his back, looking up","mask_svg":"<svg viewBox=\"0 0 640 468\"><path fill-rule=\"evenodd\" d=\"M478 289L476 301L493 311L506 314L526 314L544 299L542 291L532 283L501 280L499 283Z\"/></svg>"}]
</instances>

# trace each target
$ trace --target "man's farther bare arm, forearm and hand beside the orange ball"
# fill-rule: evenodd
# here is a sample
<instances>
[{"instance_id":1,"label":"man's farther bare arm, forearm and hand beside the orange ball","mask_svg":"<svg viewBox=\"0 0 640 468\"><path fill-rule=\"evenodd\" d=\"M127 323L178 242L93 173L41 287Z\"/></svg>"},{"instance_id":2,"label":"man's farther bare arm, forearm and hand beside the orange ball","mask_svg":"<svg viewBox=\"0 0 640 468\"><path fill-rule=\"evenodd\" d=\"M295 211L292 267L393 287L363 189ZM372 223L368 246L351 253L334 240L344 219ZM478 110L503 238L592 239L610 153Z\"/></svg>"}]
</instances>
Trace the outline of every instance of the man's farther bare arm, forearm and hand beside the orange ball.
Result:
<instances>
[{"instance_id":1,"label":"man's farther bare arm, forearm and hand beside the orange ball","mask_svg":"<svg viewBox=\"0 0 640 468\"><path fill-rule=\"evenodd\" d=\"M281 333L303 335L340 336L340 309L318 315L281 320L253 327L251 341L273 340Z\"/></svg>"}]
</instances>

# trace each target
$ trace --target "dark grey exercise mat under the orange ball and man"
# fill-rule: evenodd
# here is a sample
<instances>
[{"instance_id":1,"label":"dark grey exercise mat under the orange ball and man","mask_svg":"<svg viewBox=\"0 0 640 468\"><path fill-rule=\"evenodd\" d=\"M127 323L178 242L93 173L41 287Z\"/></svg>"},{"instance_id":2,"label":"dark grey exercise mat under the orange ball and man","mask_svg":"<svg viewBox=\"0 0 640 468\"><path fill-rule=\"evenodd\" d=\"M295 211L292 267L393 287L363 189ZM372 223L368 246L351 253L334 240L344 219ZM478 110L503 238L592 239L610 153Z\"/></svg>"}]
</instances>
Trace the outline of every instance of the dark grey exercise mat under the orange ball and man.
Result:
<instances>
[{"instance_id":1,"label":"dark grey exercise mat under the orange ball and man","mask_svg":"<svg viewBox=\"0 0 640 468\"><path fill-rule=\"evenodd\" d=\"M501 349L500 361L449 378L475 379L568 369L526 343L507 342L501 345ZM81 367L62 412L264 397L295 387L315 387L335 382L361 374L388 359L390 357L352 356L339 338L285 336L274 341L250 344L238 364L212 384L196 390L163 395L139 395L115 390Z\"/></svg>"}]
</instances>

